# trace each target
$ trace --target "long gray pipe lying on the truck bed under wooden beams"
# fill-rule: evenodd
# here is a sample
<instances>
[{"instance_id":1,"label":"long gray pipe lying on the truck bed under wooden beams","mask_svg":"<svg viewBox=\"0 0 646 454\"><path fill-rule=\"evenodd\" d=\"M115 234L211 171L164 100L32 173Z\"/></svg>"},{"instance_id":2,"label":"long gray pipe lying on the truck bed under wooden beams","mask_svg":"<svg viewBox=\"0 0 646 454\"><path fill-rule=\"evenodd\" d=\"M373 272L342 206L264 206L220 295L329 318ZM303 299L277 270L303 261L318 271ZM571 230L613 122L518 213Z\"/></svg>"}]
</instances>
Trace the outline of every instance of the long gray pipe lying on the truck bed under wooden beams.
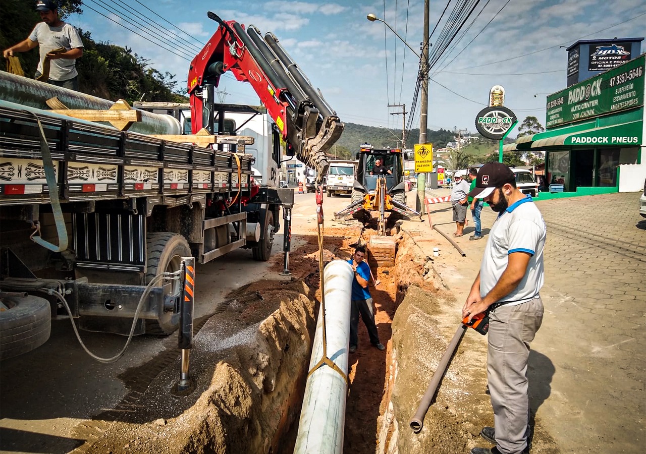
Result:
<instances>
[{"instance_id":1,"label":"long gray pipe lying on the truck bed under wooden beams","mask_svg":"<svg viewBox=\"0 0 646 454\"><path fill-rule=\"evenodd\" d=\"M107 99L0 71L0 99L48 110L45 101L54 96L71 109L107 110L114 105L113 101ZM109 125L103 122L101 124ZM180 122L177 119L145 110L141 110L141 121L133 123L128 131L140 134L181 134Z\"/></svg>"}]
</instances>

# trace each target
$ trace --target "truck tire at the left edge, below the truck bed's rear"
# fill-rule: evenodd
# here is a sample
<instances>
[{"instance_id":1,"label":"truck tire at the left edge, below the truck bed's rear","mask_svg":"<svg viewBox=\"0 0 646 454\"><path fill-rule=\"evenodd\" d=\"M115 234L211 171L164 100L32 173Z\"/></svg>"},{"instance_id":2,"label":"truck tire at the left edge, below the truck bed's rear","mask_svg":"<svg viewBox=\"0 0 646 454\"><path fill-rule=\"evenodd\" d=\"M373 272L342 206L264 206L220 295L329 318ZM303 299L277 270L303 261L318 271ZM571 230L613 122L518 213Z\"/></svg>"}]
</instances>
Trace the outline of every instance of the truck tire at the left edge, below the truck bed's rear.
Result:
<instances>
[{"instance_id":1,"label":"truck tire at the left edge, below the truck bed's rear","mask_svg":"<svg viewBox=\"0 0 646 454\"><path fill-rule=\"evenodd\" d=\"M32 351L47 342L52 331L52 309L39 296L3 298L9 309L0 312L0 360Z\"/></svg>"}]
</instances>

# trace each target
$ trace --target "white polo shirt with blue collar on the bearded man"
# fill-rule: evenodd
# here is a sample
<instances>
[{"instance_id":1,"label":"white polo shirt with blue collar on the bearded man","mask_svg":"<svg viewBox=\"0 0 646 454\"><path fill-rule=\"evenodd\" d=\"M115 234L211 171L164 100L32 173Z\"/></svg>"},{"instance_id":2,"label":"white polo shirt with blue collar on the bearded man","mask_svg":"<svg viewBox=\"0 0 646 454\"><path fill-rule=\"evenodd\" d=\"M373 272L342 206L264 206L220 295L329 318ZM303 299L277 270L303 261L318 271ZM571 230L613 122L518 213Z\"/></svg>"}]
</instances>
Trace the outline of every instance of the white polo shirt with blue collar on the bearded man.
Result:
<instances>
[{"instance_id":1,"label":"white polo shirt with blue collar on the bearded man","mask_svg":"<svg viewBox=\"0 0 646 454\"><path fill-rule=\"evenodd\" d=\"M508 256L515 252L531 254L525 276L516 289L500 302L517 305L538 296L543 287L543 248L547 227L531 196L517 201L503 211L492 225L480 265L480 294L484 297L503 275Z\"/></svg>"}]
</instances>

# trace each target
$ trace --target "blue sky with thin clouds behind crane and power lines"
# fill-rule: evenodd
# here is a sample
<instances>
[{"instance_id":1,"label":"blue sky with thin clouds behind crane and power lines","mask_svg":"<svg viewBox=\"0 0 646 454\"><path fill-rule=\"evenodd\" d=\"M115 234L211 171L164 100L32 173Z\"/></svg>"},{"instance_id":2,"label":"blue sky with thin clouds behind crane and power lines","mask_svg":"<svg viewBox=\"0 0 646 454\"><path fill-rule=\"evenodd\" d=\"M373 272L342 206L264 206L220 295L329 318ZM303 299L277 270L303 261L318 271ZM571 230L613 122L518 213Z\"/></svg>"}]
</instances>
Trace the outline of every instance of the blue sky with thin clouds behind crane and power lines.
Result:
<instances>
[{"instance_id":1,"label":"blue sky with thin clouds behind crane and power lines","mask_svg":"<svg viewBox=\"0 0 646 454\"><path fill-rule=\"evenodd\" d=\"M456 1L452 0L448 12ZM431 1L431 29L446 3ZM152 67L176 74L185 87L189 61L216 30L216 23L207 18L211 10L224 20L273 32L342 121L399 129L402 116L391 112L401 112L401 107L388 105L405 104L410 110L419 59L384 24L370 22L366 15L385 19L419 54L423 5L422 0L86 0L83 14L70 16L68 22L90 30L95 41L132 48ZM124 20L132 10L166 33L151 26L155 36L151 39L145 36L152 33L137 36L118 25L134 28ZM545 125L546 94L566 87L567 51L559 45L567 47L578 39L646 36L646 0L481 0L467 25L480 10L471 28L446 52L446 59L432 69L430 129L457 127L474 132L475 116L486 107L493 85L505 87L505 106L519 119L533 115ZM430 39L432 44L437 43L443 25L444 19ZM642 43L641 52L645 50ZM258 103L255 92L231 76L222 77L219 90L227 93L223 95L227 103ZM419 127L419 101L411 114L413 127Z\"/></svg>"}]
</instances>

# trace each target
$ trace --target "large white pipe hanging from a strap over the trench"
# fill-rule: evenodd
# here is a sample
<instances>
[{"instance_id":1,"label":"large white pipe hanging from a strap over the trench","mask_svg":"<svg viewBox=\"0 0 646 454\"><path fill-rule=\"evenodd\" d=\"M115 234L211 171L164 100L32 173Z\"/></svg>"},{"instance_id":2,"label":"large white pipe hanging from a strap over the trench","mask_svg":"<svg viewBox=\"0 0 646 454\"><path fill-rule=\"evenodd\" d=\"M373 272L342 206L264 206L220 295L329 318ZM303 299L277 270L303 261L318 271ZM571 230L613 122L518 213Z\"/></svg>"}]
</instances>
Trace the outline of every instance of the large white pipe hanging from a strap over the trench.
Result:
<instances>
[{"instance_id":1,"label":"large white pipe hanging from a strap over the trench","mask_svg":"<svg viewBox=\"0 0 646 454\"><path fill-rule=\"evenodd\" d=\"M325 321L328 358L342 372L328 364L318 367L305 387L294 454L340 454L348 395L348 344L350 333L350 296L355 274L344 260L328 263L325 282ZM309 361L311 371L323 358L322 307Z\"/></svg>"}]
</instances>

